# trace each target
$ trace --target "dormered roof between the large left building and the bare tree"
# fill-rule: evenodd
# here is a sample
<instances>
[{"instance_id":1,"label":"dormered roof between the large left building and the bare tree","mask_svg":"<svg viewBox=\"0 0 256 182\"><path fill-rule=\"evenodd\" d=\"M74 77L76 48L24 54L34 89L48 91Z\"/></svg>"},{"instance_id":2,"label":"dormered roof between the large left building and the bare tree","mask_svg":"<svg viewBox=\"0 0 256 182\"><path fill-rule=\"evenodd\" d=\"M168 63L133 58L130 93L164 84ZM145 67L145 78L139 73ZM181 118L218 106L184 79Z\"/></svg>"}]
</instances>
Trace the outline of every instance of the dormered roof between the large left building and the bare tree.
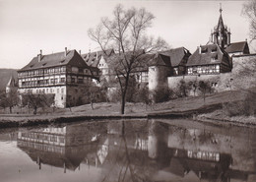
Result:
<instances>
[{"instance_id":1,"label":"dormered roof between the large left building and the bare tree","mask_svg":"<svg viewBox=\"0 0 256 182\"><path fill-rule=\"evenodd\" d=\"M101 58L101 56L107 56L108 57L112 53L114 53L113 49L107 49L107 50L105 50L105 52L96 51L96 52L81 54L81 56L89 66L96 67L100 58Z\"/></svg>"}]
</instances>

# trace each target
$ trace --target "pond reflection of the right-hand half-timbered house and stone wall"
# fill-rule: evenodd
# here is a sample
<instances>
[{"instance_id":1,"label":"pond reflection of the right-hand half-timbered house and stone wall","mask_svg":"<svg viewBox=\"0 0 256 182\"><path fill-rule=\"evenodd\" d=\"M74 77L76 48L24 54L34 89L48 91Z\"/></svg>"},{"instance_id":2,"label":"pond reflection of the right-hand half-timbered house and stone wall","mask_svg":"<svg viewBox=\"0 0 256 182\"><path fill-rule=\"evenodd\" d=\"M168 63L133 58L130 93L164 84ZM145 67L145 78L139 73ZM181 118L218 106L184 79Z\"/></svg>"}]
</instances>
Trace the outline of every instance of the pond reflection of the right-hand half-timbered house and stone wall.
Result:
<instances>
[{"instance_id":1,"label":"pond reflection of the right-hand half-timbered house and stone wall","mask_svg":"<svg viewBox=\"0 0 256 182\"><path fill-rule=\"evenodd\" d=\"M192 170L201 181L243 181L255 174L255 158L250 150L253 145L248 145L255 134L235 127L229 133L219 128L177 126L169 126L168 131L168 148L172 151L169 171L173 173L185 176Z\"/></svg>"}]
</instances>

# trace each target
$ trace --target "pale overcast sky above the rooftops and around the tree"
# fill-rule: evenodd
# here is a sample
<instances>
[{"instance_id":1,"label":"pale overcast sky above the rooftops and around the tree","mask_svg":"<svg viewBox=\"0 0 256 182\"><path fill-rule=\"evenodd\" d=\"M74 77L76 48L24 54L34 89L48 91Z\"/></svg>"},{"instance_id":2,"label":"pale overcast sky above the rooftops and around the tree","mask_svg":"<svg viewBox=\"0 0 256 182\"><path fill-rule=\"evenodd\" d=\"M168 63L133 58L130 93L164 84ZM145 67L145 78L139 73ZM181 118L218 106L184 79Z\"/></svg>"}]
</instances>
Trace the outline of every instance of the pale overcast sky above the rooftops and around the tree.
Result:
<instances>
[{"instance_id":1,"label":"pale overcast sky above the rooftops and around the tree","mask_svg":"<svg viewBox=\"0 0 256 182\"><path fill-rule=\"evenodd\" d=\"M161 36L173 48L184 46L193 53L206 44L218 23L220 3L231 42L249 40L248 22L241 16L243 1L0 0L0 68L21 69L40 49L43 54L64 47L96 51L87 30L101 17L111 17L118 3L152 12L156 19L149 34Z\"/></svg>"}]
</instances>

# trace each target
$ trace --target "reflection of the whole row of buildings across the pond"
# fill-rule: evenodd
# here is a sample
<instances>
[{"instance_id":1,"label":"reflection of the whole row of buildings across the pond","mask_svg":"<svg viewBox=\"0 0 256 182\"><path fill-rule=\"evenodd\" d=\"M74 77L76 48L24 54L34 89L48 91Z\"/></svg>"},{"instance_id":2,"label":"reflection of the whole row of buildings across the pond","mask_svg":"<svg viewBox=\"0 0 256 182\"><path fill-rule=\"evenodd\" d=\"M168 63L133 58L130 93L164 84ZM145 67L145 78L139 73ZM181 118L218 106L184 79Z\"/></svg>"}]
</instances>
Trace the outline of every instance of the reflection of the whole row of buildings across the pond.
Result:
<instances>
[{"instance_id":1,"label":"reflection of the whole row of buildings across the pond","mask_svg":"<svg viewBox=\"0 0 256 182\"><path fill-rule=\"evenodd\" d=\"M38 164L73 170L81 162L88 170L99 167L100 175L109 176L106 181L116 181L117 175L164 181L162 173L177 181L247 180L255 175L254 131L230 132L116 121L20 131L18 146Z\"/></svg>"}]
</instances>

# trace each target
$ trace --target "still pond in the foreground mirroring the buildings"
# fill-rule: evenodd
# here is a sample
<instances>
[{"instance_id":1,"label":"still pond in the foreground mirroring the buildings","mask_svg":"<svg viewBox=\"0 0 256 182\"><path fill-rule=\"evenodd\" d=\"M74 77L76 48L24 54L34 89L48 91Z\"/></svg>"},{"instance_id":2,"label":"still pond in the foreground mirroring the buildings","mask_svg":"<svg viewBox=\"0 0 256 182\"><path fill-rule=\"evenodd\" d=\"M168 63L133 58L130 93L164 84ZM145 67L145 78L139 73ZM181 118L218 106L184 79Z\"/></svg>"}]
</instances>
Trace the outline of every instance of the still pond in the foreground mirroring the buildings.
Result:
<instances>
[{"instance_id":1,"label":"still pond in the foreground mirroring the buildings","mask_svg":"<svg viewBox=\"0 0 256 182\"><path fill-rule=\"evenodd\" d=\"M256 181L256 129L113 120L0 130L0 181Z\"/></svg>"}]
</instances>

